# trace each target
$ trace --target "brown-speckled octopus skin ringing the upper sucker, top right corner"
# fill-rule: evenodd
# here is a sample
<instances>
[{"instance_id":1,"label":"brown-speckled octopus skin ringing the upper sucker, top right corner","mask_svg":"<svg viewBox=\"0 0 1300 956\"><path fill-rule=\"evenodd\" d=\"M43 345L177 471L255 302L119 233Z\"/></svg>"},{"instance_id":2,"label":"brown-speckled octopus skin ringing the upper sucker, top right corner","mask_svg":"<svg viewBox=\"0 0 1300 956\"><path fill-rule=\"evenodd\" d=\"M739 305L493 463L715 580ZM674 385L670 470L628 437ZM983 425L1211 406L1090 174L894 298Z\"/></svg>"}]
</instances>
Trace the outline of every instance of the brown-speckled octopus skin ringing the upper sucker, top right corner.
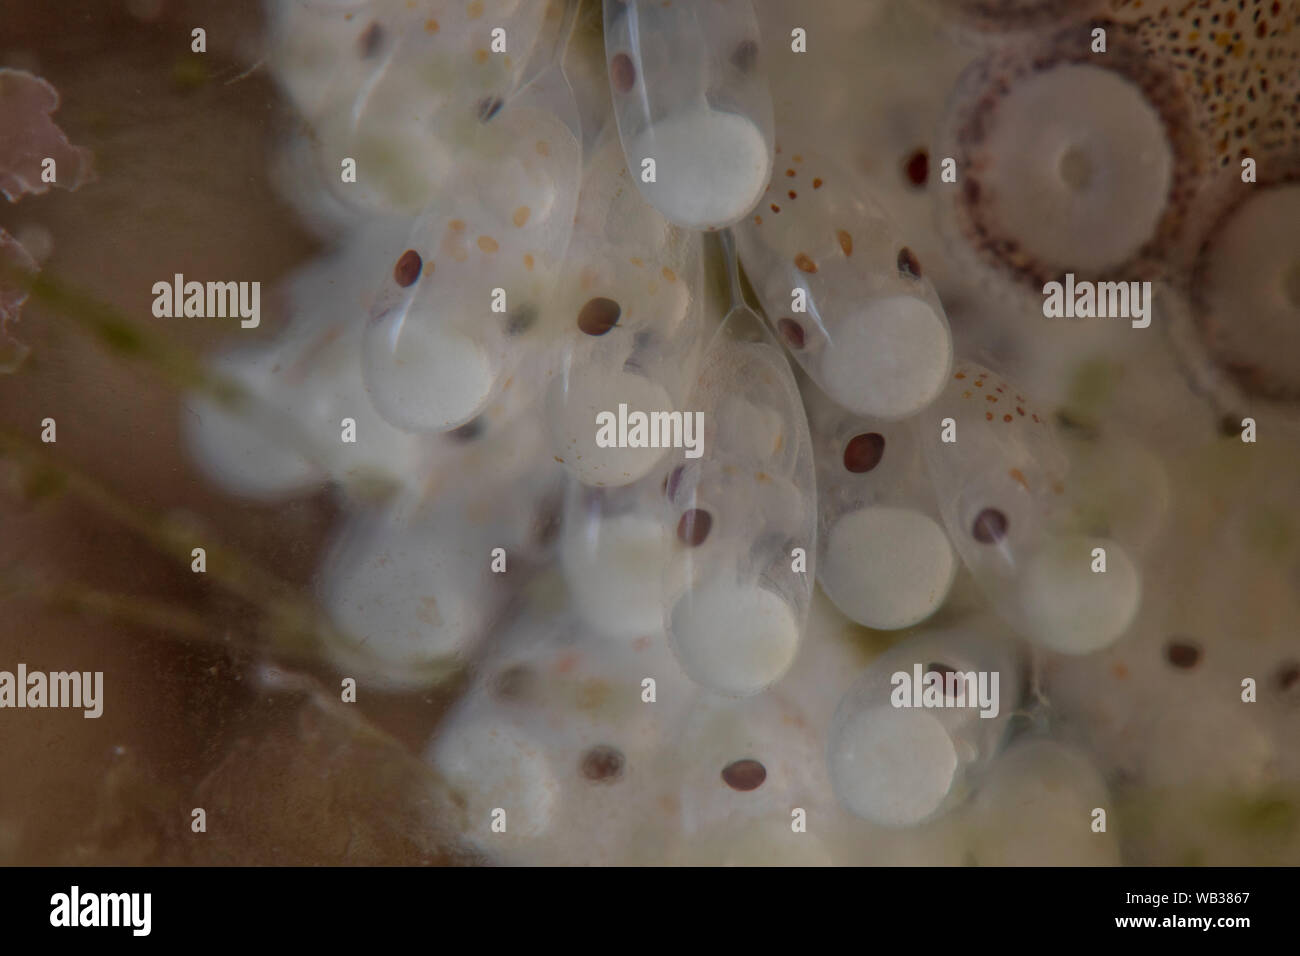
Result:
<instances>
[{"instance_id":1,"label":"brown-speckled octopus skin ringing the upper sucker, top right corner","mask_svg":"<svg viewBox=\"0 0 1300 956\"><path fill-rule=\"evenodd\" d=\"M1110 272L1154 277L1167 267L1202 187L1216 169L1242 157L1300 151L1300 4L1291 0L1093 1L1095 20L1063 27L1065 3L954 0L978 29L1015 22L1043 39L1032 49L1001 44L963 78L953 126L953 157L963 170L954 225L978 260L1035 290L1058 269L1001 233L997 196L982 169L997 161L983 150L1004 91L1023 77L1065 62L1114 70L1138 86L1165 126L1174 157L1167 206L1147 243ZM1087 7L1076 13L1088 14ZM1106 31L1105 55L1091 52L1091 31ZM1056 33L1044 34L1044 30ZM1080 278L1087 276L1080 274Z\"/></svg>"}]
</instances>

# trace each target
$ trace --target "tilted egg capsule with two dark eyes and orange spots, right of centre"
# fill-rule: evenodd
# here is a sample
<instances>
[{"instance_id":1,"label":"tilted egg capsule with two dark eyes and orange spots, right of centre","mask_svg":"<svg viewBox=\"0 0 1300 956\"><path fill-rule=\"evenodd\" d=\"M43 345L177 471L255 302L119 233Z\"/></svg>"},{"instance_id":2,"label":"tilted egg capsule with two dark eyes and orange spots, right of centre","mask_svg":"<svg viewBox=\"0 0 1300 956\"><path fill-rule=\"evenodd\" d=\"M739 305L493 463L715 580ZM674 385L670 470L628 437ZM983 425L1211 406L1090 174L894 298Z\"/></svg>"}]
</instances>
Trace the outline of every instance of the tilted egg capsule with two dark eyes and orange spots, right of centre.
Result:
<instances>
[{"instance_id":1,"label":"tilted egg capsule with two dark eyes and orange spots, right of centre","mask_svg":"<svg viewBox=\"0 0 1300 956\"><path fill-rule=\"evenodd\" d=\"M944 388L953 346L939 297L848 173L789 155L736 242L777 337L835 402L900 419Z\"/></svg>"}]
</instances>

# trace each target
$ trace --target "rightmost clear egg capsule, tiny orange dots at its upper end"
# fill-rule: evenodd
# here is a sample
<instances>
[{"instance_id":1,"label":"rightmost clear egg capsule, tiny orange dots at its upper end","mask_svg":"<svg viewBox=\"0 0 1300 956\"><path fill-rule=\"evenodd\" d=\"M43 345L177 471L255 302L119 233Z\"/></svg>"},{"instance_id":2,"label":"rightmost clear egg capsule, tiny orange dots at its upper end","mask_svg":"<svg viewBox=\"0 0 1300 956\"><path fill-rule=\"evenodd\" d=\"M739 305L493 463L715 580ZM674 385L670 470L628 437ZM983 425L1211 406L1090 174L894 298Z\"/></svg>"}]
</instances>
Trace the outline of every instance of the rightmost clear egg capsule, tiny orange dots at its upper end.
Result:
<instances>
[{"instance_id":1,"label":"rightmost clear egg capsule, tiny orange dots at its upper end","mask_svg":"<svg viewBox=\"0 0 1300 956\"><path fill-rule=\"evenodd\" d=\"M1138 613L1138 564L1075 523L1067 460L1013 385L961 362L915 421L953 546L997 613L1052 650L1087 654Z\"/></svg>"}]
</instances>

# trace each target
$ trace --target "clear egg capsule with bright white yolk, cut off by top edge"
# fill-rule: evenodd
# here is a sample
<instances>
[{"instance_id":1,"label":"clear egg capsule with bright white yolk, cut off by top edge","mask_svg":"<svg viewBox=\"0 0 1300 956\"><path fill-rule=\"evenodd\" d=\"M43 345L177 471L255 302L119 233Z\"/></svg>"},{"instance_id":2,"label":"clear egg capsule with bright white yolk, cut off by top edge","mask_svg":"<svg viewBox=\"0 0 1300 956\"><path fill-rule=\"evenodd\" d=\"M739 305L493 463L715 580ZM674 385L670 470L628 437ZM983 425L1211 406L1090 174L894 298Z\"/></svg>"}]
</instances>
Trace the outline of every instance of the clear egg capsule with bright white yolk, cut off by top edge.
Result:
<instances>
[{"instance_id":1,"label":"clear egg capsule with bright white yolk, cut off by top edge","mask_svg":"<svg viewBox=\"0 0 1300 956\"><path fill-rule=\"evenodd\" d=\"M628 168L670 221L719 229L772 172L772 98L749 0L604 0L604 56Z\"/></svg>"}]
</instances>

